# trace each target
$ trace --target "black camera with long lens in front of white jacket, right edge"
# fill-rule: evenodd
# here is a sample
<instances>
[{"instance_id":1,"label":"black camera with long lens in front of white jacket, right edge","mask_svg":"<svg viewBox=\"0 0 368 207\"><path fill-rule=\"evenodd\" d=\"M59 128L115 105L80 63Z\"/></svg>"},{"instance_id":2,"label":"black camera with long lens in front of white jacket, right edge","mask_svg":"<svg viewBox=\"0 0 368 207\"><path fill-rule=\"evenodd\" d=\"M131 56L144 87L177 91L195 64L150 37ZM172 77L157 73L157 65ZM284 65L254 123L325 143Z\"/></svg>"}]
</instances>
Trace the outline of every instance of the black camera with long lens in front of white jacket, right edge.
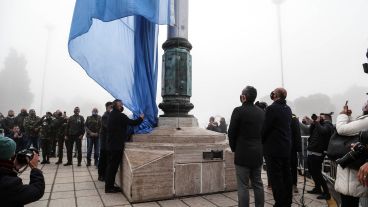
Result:
<instances>
[{"instance_id":1,"label":"black camera with long lens in front of white jacket, right edge","mask_svg":"<svg viewBox=\"0 0 368 207\"><path fill-rule=\"evenodd\" d=\"M342 168L353 164L358 160L366 160L368 158L368 131L362 131L359 135L359 142L355 143L353 149L344 155L342 158L337 159L336 163Z\"/></svg>"}]
</instances>

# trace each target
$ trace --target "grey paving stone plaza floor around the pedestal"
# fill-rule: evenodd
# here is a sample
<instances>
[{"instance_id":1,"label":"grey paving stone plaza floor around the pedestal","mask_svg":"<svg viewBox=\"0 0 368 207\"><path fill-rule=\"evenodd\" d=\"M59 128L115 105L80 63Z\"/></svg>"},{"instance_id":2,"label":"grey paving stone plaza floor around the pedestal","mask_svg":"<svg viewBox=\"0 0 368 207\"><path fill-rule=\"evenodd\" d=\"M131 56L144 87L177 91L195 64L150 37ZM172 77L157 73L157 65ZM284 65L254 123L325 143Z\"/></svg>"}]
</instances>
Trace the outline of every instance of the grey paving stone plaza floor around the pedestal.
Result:
<instances>
[{"instance_id":1,"label":"grey paving stone plaza floor around the pedestal","mask_svg":"<svg viewBox=\"0 0 368 207\"><path fill-rule=\"evenodd\" d=\"M85 142L83 143L86 144ZM42 169L46 189L44 196L37 202L27 207L98 207L98 206L134 206L134 207L230 207L237 206L237 192L224 192L194 197L183 197L172 200L163 200L147 203L131 204L121 193L105 194L104 182L97 180L95 166L86 167L85 147L83 149L82 166L78 167L76 158L72 166L55 165L56 158L51 159L51 164L39 165ZM64 160L65 161L65 160ZM92 162L93 163L93 162ZM24 183L29 182L29 170L21 175ZM273 197L267 188L266 173L262 172L263 184L265 185L265 207L273 206ZM303 177L298 179L299 193L294 193L293 206L300 205ZM306 190L311 190L313 181L307 180ZM251 190L251 206L254 206L253 192ZM305 204L308 207L328 206L326 201L317 200L315 195L305 194Z\"/></svg>"}]
</instances>

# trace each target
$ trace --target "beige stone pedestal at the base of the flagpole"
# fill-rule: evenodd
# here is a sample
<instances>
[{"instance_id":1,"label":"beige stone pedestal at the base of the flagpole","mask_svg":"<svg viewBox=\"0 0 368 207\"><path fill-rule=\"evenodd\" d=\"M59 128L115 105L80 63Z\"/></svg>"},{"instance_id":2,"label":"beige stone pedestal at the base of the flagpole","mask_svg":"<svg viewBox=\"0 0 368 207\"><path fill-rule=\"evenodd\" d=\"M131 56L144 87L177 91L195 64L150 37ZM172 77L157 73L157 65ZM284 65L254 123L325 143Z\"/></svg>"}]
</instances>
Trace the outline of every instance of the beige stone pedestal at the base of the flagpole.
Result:
<instances>
[{"instance_id":1,"label":"beige stone pedestal at the base of the flagpole","mask_svg":"<svg viewBox=\"0 0 368 207\"><path fill-rule=\"evenodd\" d=\"M159 122L152 133L134 135L126 144L120 181L130 202L236 189L225 134L198 128L195 118ZM211 159L211 151L222 157Z\"/></svg>"}]
</instances>

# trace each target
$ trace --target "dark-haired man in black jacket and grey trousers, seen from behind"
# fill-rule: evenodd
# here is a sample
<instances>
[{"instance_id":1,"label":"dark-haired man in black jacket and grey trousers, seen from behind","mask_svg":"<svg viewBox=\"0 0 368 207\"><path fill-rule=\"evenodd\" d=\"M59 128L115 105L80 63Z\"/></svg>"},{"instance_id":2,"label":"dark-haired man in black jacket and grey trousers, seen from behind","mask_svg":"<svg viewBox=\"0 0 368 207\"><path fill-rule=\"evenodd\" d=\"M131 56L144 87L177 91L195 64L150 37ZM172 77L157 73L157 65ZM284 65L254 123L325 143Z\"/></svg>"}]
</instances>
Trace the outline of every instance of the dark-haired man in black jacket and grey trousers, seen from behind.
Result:
<instances>
[{"instance_id":1,"label":"dark-haired man in black jacket and grey trousers, seen from behind","mask_svg":"<svg viewBox=\"0 0 368 207\"><path fill-rule=\"evenodd\" d=\"M255 206L264 206L261 178L264 111L254 105L256 98L257 90L254 87L247 86L243 89L240 95L242 106L234 109L229 126L229 144L231 151L235 152L240 207L249 207L249 180L254 190Z\"/></svg>"}]
</instances>

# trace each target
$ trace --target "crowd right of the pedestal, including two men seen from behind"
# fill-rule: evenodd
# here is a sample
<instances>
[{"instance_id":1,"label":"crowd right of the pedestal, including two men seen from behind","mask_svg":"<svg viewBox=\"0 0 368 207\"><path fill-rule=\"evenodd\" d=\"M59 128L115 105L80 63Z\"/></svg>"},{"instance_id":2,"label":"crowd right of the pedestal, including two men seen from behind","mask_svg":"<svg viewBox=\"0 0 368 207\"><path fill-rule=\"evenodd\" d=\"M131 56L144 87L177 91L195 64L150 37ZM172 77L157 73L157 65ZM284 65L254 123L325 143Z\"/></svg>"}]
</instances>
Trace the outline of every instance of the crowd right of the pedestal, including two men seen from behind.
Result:
<instances>
[{"instance_id":1,"label":"crowd right of the pedestal, including two men seen from behind","mask_svg":"<svg viewBox=\"0 0 368 207\"><path fill-rule=\"evenodd\" d=\"M334 126L332 112L314 114L311 118L306 116L299 122L299 118L286 104L287 91L284 88L276 88L271 92L273 103L270 106L264 102L254 103L256 97L257 90L254 87L243 89L240 95L242 105L234 109L228 130L229 144L235 153L239 206L249 206L250 185L254 190L255 206L264 206L261 179L264 161L268 186L275 200L274 206L291 206L293 192L298 192L298 160L304 159L302 135L308 136L304 153L307 156L305 167L315 185L307 193L316 194L317 199L329 200L331 194L322 175L322 164L330 139L334 133L349 139L367 130L368 102L362 108L363 114L355 120L345 105ZM340 193L341 207L358 207L359 199L368 196L367 186L368 162L359 169L338 165L334 188Z\"/></svg>"}]
</instances>

